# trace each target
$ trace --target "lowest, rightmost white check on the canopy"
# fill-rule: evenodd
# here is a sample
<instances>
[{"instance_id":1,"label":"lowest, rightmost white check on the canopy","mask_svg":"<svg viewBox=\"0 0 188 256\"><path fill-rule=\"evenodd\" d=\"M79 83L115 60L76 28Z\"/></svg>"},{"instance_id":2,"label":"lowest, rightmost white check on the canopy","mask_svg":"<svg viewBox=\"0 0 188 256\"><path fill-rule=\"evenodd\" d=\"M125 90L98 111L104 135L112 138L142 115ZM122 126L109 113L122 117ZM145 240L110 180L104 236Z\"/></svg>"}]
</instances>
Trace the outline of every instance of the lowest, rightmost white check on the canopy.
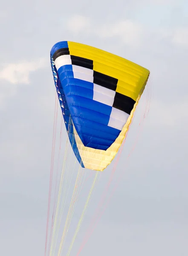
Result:
<instances>
[{"instance_id":1,"label":"lowest, rightmost white check on the canopy","mask_svg":"<svg viewBox=\"0 0 188 256\"><path fill-rule=\"evenodd\" d=\"M130 115L117 108L112 108L108 126L122 130Z\"/></svg>"}]
</instances>

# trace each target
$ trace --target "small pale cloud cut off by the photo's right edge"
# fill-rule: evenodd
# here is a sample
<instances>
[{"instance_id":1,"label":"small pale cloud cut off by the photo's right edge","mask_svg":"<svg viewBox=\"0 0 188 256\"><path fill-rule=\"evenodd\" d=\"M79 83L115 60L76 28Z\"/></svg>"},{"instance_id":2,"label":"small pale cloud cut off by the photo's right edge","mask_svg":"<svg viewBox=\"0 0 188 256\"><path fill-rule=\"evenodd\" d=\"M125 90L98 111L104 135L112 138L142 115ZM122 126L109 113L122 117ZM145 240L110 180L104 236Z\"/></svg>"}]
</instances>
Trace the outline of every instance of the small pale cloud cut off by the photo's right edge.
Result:
<instances>
[{"instance_id":1,"label":"small pale cloud cut off by the photo's right edge","mask_svg":"<svg viewBox=\"0 0 188 256\"><path fill-rule=\"evenodd\" d=\"M172 41L176 45L188 47L188 28L182 27L175 29Z\"/></svg>"}]
</instances>

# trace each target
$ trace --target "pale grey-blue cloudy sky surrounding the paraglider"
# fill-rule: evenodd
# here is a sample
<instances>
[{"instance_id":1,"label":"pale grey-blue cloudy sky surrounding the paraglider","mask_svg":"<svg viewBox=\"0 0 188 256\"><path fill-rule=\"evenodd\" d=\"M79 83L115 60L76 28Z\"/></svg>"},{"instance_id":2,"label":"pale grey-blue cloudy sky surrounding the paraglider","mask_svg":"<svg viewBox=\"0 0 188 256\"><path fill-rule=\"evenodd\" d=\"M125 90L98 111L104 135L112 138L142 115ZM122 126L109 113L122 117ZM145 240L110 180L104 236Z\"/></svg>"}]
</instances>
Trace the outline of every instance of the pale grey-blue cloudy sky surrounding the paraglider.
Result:
<instances>
[{"instance_id":1,"label":"pale grey-blue cloudy sky surrounding the paraglider","mask_svg":"<svg viewBox=\"0 0 188 256\"><path fill-rule=\"evenodd\" d=\"M147 99L143 94L114 177L123 174L121 182L80 255L187 256L188 3L10 0L0 5L0 254L44 253L55 105L49 54L56 42L68 40L148 68L153 92L125 169L139 108ZM102 173L93 198L111 168ZM90 217L88 209L87 221Z\"/></svg>"}]
</instances>

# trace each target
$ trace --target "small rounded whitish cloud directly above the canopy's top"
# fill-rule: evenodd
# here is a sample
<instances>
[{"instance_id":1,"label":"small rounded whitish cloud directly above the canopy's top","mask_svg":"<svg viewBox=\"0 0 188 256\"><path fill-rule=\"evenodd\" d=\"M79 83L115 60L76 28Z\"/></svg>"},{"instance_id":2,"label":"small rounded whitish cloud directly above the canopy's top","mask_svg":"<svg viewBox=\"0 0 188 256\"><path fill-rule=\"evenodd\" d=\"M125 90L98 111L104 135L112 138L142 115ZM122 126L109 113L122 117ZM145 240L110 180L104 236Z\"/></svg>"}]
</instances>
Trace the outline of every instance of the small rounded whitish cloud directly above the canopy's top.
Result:
<instances>
[{"instance_id":1,"label":"small rounded whitish cloud directly above the canopy's top","mask_svg":"<svg viewBox=\"0 0 188 256\"><path fill-rule=\"evenodd\" d=\"M89 32L90 19L81 15L74 15L68 20L67 28L70 32L76 35L83 31Z\"/></svg>"}]
</instances>

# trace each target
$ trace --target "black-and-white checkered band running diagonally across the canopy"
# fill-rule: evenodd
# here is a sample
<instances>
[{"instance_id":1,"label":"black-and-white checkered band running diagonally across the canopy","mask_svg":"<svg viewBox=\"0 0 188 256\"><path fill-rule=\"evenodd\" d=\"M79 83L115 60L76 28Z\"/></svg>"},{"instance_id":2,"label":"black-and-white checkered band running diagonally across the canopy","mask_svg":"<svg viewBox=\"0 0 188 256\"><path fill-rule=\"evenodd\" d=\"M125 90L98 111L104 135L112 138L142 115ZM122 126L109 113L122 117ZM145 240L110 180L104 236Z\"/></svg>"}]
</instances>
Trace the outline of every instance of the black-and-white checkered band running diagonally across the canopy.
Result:
<instances>
[{"instance_id":1,"label":"black-and-white checkered band running diagonally across the canopy","mask_svg":"<svg viewBox=\"0 0 188 256\"><path fill-rule=\"evenodd\" d=\"M56 69L59 70L61 67L69 65L69 70L72 71L74 79L80 79L80 80L92 83L92 85L93 85L93 100L97 101L97 102L101 102L102 104L108 105L111 107L111 113L109 115L107 125L121 131L124 124L127 122L127 119L129 117L130 113L126 113L125 111L121 110L121 107L119 109L118 104L116 104L117 94L119 94L119 93L117 93L116 90L110 89L110 88L113 88L113 85L114 85L113 89L116 89L118 80L114 79L115 81L113 81L113 83L110 83L110 79L107 78L106 80L109 80L109 84L106 84L106 80L101 79L99 81L99 83L101 85L95 84L94 81L97 80L98 78L100 78L100 76L97 76L98 74L96 74L96 72L93 69L91 69L92 66L90 68L82 67L82 66L87 66L86 65L87 61L91 62L91 60L84 59L84 61L85 61L84 62L83 58L82 58L82 61L77 61L77 64L79 64L79 65L75 65L75 64L73 64L73 63L75 63L75 61L72 58L72 56L66 55L65 53L66 54L69 53L67 48L65 51L64 51L64 49L62 49L62 51L58 51L58 53L56 53L56 56L60 55L60 54L64 54L64 55L60 55L55 58ZM77 59L79 59L79 58L77 57ZM103 74L100 74L100 75L102 76ZM104 79L107 77L105 75L103 75L103 76L104 76ZM92 87L92 85L91 85L91 87ZM109 87L109 88L107 88L107 87ZM134 104L134 101L133 101L133 104ZM132 104L132 108L133 108L133 104ZM116 107L116 105L117 105L117 107ZM127 112L130 112L130 111L127 111Z\"/></svg>"}]
</instances>

